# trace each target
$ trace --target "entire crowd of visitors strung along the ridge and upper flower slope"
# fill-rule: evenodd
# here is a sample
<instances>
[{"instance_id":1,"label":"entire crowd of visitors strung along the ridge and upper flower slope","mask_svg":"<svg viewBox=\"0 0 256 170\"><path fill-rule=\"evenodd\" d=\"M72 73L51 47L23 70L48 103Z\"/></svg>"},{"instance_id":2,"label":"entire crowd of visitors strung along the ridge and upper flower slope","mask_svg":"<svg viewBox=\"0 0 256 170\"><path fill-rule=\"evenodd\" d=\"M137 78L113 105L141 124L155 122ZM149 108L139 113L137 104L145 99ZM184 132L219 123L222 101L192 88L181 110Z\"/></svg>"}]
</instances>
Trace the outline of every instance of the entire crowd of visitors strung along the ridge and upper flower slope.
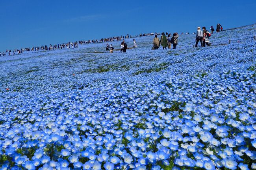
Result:
<instances>
[{"instance_id":1,"label":"entire crowd of visitors strung along the ridge and upper flower slope","mask_svg":"<svg viewBox=\"0 0 256 170\"><path fill-rule=\"evenodd\" d=\"M196 44L195 44L195 47L197 47L198 45L198 42L200 41L200 44L202 47L205 47L206 45L207 46L210 46L210 39L209 37L211 36L211 34L215 31L215 29L213 28L213 26L210 27L210 31L207 31L206 30L206 27L202 27L202 30L200 27L197 28L197 32L194 32L193 34L196 34ZM221 24L217 24L216 26L216 32L219 32L219 31L223 31L223 27L221 26ZM189 32L182 32L181 33L182 35L183 34L189 34ZM170 49L171 48L171 44L173 44L173 49L176 49L176 46L178 44L178 33L173 33L173 35L171 35L171 33L161 33L161 37L160 39L158 38L158 35L160 35L160 33L140 33L139 34L139 37L143 37L143 36L149 36L149 35L155 35L154 39L153 39L153 47L152 47L152 50L153 49L159 49L160 46L162 46L163 49L167 49L167 47ZM137 35L135 37L138 37ZM132 35L121 35L121 36L116 36L116 37L108 37L108 38L101 38L101 39L96 39L96 40L79 40L79 41L76 41L76 42L67 42L67 43L62 43L62 44L50 44L50 46L35 46L35 47L32 47L31 49L30 48L20 48L20 49L14 49L13 50L13 53L12 55L15 55L15 54L21 54L22 52L24 51L39 51L39 50L56 50L56 49L70 49L70 48L78 48L78 44L82 45L82 44L95 44L95 43L102 43L102 42L112 42L112 41L121 41L121 53L122 52L126 52L126 49L127 49L127 44L126 42L124 42L124 39L125 38L133 38ZM137 44L135 42L135 39L133 39L133 44L134 44L134 47L137 47ZM112 44L107 44L106 45L106 50L109 51L111 53L113 53L113 46ZM1 52L0 53L0 57L1 56L6 56L6 53L8 55L11 55L11 50L7 50L6 49L6 52Z\"/></svg>"}]
</instances>

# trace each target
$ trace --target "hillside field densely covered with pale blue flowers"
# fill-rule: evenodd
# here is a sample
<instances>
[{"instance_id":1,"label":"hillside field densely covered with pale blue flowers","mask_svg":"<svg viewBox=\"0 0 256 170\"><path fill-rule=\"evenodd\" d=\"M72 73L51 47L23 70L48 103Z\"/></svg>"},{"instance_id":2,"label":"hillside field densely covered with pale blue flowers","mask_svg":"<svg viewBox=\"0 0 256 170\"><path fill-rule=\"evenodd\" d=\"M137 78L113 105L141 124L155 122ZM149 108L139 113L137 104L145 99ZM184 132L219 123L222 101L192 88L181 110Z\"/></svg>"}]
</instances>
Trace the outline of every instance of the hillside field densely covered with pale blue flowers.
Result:
<instances>
[{"instance_id":1,"label":"hillside field densely covered with pale blue flowers","mask_svg":"<svg viewBox=\"0 0 256 170\"><path fill-rule=\"evenodd\" d=\"M256 169L255 31L0 58L1 170Z\"/></svg>"}]
</instances>

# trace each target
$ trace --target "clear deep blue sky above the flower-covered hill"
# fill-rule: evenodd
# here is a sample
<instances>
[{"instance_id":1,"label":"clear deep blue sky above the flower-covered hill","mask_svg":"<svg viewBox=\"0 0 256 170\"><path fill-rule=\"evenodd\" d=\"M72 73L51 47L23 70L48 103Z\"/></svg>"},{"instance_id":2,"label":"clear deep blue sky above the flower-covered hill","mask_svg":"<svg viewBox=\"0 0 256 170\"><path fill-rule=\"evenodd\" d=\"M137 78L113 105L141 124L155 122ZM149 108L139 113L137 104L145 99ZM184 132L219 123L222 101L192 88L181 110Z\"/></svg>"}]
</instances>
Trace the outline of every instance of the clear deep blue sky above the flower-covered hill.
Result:
<instances>
[{"instance_id":1,"label":"clear deep blue sky above the flower-covered hill","mask_svg":"<svg viewBox=\"0 0 256 170\"><path fill-rule=\"evenodd\" d=\"M256 22L256 0L0 0L0 51ZM215 28L216 29L216 28Z\"/></svg>"}]
</instances>

